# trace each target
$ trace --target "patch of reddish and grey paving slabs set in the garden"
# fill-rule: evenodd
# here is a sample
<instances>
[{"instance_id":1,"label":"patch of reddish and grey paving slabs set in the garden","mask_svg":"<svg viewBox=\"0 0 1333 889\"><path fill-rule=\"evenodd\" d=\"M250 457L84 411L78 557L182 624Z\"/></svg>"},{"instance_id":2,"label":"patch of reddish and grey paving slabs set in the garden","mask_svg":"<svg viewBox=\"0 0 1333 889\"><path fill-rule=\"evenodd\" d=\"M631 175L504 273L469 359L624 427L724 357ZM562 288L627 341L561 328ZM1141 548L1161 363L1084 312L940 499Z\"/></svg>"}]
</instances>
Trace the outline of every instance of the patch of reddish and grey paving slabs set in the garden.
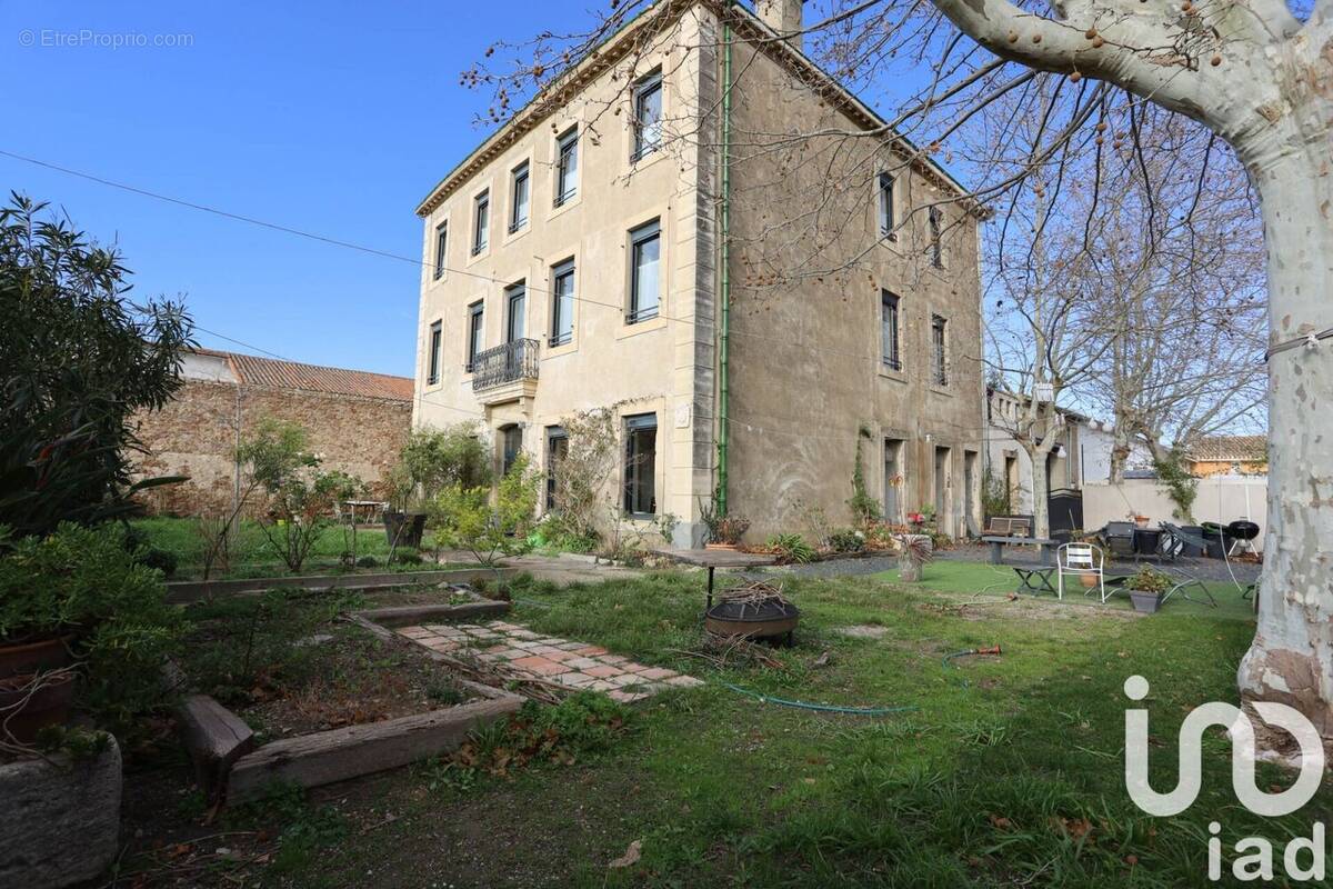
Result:
<instances>
[{"instance_id":1,"label":"patch of reddish and grey paving slabs set in the garden","mask_svg":"<svg viewBox=\"0 0 1333 889\"><path fill-rule=\"evenodd\" d=\"M504 664L511 670L572 689L605 692L625 704L668 688L702 685L693 676L636 664L600 645L541 636L508 621L427 624L404 626L397 633L441 654L465 652L483 662Z\"/></svg>"}]
</instances>

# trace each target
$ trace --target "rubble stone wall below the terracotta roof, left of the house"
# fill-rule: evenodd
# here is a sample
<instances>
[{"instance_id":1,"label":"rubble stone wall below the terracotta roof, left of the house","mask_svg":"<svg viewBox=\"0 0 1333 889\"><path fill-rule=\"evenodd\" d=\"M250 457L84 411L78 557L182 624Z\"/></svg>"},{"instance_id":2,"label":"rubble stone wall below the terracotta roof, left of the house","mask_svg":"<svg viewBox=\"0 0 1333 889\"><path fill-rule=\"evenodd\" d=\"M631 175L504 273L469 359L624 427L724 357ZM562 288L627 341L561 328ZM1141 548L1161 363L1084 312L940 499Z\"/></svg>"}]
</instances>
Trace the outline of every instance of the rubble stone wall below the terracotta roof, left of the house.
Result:
<instances>
[{"instance_id":1,"label":"rubble stone wall below the terracotta roof, left of the house","mask_svg":"<svg viewBox=\"0 0 1333 889\"><path fill-rule=\"evenodd\" d=\"M328 469L367 482L371 498L384 498L384 477L407 441L412 404L351 395L191 381L161 411L136 417L148 453L136 460L136 478L189 476L189 481L148 490L152 514L207 516L231 509L236 485L236 444L265 417L299 423L311 449Z\"/></svg>"}]
</instances>

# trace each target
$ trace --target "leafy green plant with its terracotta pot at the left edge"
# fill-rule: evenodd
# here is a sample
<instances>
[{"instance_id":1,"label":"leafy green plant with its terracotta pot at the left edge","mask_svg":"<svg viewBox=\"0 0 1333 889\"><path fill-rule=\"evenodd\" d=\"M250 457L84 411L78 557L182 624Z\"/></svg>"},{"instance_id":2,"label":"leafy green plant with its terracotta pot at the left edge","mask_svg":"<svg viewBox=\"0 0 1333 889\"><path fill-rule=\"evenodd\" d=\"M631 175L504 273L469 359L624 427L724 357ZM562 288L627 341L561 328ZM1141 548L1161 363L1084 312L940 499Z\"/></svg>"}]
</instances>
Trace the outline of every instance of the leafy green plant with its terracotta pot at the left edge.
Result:
<instances>
[{"instance_id":1,"label":"leafy green plant with its terracotta pot at the left edge","mask_svg":"<svg viewBox=\"0 0 1333 889\"><path fill-rule=\"evenodd\" d=\"M83 705L112 729L160 702L183 620L161 572L115 525L47 537L0 529L0 744L29 744Z\"/></svg>"}]
</instances>

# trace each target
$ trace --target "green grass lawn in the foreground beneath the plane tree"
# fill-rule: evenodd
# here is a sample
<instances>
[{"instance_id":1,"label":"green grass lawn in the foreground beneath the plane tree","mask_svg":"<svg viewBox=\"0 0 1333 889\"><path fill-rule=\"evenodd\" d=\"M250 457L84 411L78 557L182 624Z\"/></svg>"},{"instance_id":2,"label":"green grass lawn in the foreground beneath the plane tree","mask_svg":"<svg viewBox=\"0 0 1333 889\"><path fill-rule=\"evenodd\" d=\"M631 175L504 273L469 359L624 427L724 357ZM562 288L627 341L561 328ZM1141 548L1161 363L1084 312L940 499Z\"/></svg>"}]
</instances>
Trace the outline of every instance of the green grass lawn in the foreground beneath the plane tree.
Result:
<instances>
[{"instance_id":1,"label":"green grass lawn in the foreground beneath the plane tree","mask_svg":"<svg viewBox=\"0 0 1333 889\"><path fill-rule=\"evenodd\" d=\"M944 566L929 569L938 582ZM786 592L804 618L796 648L774 652L781 670L714 669L673 652L698 644L700 573L519 592L513 620L535 630L709 684L641 705L612 752L572 766L463 782L408 769L332 789L323 798L349 829L265 876L295 886L1213 885L1210 820L1234 844L1309 836L1333 814L1328 789L1294 816L1245 813L1220 733L1205 742L1204 792L1186 813L1149 817L1124 790L1125 678L1152 682L1152 732L1165 745L1154 786L1169 789L1185 713L1236 701L1248 620L1000 596L960 609L973 596L878 578L792 578ZM838 632L850 625L882 634ZM1002 656L942 661L993 644ZM724 681L917 709L814 713L761 704ZM1260 786L1286 782L1261 766ZM636 840L641 860L608 869Z\"/></svg>"}]
</instances>

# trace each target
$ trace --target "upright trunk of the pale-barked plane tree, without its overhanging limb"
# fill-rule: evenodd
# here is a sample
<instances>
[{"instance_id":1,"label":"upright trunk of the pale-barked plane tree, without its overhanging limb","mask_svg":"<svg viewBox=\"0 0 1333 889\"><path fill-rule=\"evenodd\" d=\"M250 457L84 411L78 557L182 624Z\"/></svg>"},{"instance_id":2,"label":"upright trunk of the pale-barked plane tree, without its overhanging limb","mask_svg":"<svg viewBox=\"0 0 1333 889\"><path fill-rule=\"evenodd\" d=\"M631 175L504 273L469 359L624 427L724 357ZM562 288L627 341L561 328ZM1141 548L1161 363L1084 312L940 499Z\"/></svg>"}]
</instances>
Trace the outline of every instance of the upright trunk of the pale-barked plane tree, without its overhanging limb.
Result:
<instances>
[{"instance_id":1,"label":"upright trunk of the pale-barked plane tree, without its overhanging limb","mask_svg":"<svg viewBox=\"0 0 1333 889\"><path fill-rule=\"evenodd\" d=\"M1325 45L1333 60L1333 45ZM1333 77L1322 111L1333 120ZM1325 125L1326 127L1326 125ZM1333 147L1326 128L1260 147L1250 164L1269 243L1274 344L1333 327ZM1269 504L1258 632L1240 668L1248 700L1310 717L1333 748L1333 340L1269 360Z\"/></svg>"}]
</instances>

